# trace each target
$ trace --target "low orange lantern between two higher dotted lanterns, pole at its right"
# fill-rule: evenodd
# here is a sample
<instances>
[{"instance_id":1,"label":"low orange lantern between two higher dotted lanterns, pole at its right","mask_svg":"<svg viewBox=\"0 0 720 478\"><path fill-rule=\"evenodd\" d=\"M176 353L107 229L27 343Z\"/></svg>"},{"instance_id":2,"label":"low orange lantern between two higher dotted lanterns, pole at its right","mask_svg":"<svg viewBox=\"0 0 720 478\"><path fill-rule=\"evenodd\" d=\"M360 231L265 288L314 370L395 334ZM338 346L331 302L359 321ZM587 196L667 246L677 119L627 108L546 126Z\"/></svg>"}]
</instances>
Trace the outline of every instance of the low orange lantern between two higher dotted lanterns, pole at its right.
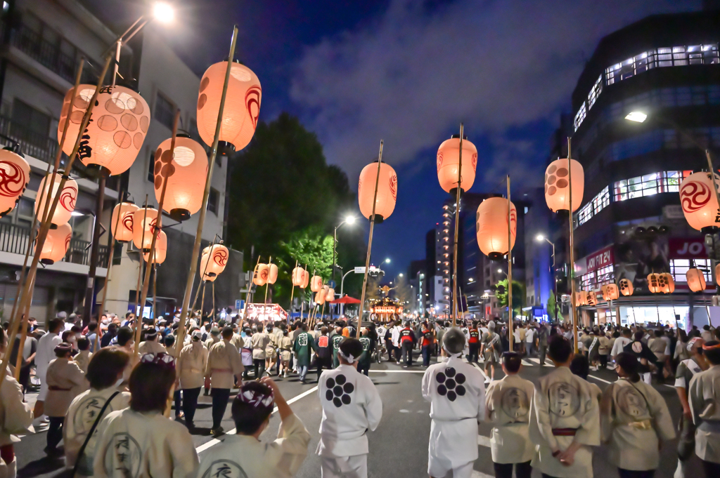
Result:
<instances>
[{"instance_id":1,"label":"low orange lantern between two higher dotted lanterns, pole at its right","mask_svg":"<svg viewBox=\"0 0 720 478\"><path fill-rule=\"evenodd\" d=\"M508 200L488 198L477 206L475 214L477 245L482 254L498 260L508 254ZM510 249L515 246L518 212L510 202Z\"/></svg>"}]
</instances>

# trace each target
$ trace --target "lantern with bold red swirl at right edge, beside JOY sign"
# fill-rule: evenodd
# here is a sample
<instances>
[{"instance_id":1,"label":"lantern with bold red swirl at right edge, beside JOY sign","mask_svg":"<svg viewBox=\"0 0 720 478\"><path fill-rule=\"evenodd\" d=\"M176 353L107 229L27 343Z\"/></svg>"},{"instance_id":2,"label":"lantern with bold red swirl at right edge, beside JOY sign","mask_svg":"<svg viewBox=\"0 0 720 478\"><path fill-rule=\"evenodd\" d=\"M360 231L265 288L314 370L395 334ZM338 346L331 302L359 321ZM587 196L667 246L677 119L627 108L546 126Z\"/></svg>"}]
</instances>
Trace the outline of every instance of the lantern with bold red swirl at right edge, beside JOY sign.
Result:
<instances>
[{"instance_id":1,"label":"lantern with bold red swirl at right edge, beside JOY sign","mask_svg":"<svg viewBox=\"0 0 720 478\"><path fill-rule=\"evenodd\" d=\"M720 182L720 176L715 174ZM693 173L680 183L680 205L685 219L693 229L718 226L718 201L710 173Z\"/></svg>"}]
</instances>

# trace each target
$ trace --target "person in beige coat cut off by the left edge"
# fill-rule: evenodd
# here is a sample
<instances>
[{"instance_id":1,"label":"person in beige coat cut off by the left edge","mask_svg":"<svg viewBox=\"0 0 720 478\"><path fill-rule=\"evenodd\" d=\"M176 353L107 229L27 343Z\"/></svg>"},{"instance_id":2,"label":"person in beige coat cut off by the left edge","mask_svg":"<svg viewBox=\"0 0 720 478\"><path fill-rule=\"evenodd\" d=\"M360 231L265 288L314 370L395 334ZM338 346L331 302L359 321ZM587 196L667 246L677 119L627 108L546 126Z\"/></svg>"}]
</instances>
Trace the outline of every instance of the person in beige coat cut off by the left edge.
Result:
<instances>
[{"instance_id":1,"label":"person in beige coat cut off by the left edge","mask_svg":"<svg viewBox=\"0 0 720 478\"><path fill-rule=\"evenodd\" d=\"M6 346L5 331L0 327L0 354L5 353ZM0 385L0 478L15 478L17 460L14 443L20 441L16 435L35 433L32 418L30 405L24 403L22 386L8 368Z\"/></svg>"}]
</instances>

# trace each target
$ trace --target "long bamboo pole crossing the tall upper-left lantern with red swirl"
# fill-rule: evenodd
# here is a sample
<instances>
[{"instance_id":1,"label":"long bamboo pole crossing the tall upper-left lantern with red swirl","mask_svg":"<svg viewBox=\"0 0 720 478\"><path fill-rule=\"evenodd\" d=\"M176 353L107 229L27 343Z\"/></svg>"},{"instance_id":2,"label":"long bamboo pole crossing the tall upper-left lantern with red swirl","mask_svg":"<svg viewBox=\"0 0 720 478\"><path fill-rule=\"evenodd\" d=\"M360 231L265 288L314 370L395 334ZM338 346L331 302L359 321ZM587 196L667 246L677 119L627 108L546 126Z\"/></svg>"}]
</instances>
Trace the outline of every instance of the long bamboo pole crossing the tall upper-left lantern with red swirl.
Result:
<instances>
[{"instance_id":1,"label":"long bamboo pole crossing the tall upper-left lantern with red swirl","mask_svg":"<svg viewBox=\"0 0 720 478\"><path fill-rule=\"evenodd\" d=\"M178 327L178 341L176 345L176 354L179 356L185 334L185 318L187 317L187 308L190 305L190 294L192 293L192 284L197 272L197 257L200 252L200 241L202 240L202 226L205 221L205 213L207 212L207 198L210 196L210 184L212 183L212 167L215 165L215 157L217 156L217 143L220 141L220 127L222 125L222 113L225 110L225 98L228 96L228 82L230 81L230 69L233 66L233 58L235 58L235 45L238 42L238 25L233 27L233 40L230 41L230 55L228 55L228 68L225 68L225 81L222 84L222 96L220 96L220 108L217 110L217 123L215 124L215 137L212 139L212 152L207 165L207 178L205 178L205 190L202 195L202 207L200 208L200 216L197 220L197 233L195 234L195 244L192 247L192 255L190 256L190 272L187 277L185 286L185 295L183 298L183 307L180 314L180 326Z\"/></svg>"}]
</instances>

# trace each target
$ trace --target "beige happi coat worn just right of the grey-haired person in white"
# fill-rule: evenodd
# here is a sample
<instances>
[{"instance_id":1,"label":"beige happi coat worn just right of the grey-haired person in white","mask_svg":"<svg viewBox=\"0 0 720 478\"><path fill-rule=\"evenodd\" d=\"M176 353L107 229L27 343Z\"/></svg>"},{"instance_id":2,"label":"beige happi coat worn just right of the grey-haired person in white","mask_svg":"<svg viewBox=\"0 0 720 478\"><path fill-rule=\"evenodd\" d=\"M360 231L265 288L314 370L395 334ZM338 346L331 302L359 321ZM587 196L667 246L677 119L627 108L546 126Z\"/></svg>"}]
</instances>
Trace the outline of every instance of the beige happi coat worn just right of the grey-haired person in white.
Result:
<instances>
[{"instance_id":1,"label":"beige happi coat worn just right of the grey-haired person in white","mask_svg":"<svg viewBox=\"0 0 720 478\"><path fill-rule=\"evenodd\" d=\"M495 463L525 463L535 456L535 443L529 437L534 392L533 382L517 374L487 386L485 404L493 426L490 452Z\"/></svg>"}]
</instances>

